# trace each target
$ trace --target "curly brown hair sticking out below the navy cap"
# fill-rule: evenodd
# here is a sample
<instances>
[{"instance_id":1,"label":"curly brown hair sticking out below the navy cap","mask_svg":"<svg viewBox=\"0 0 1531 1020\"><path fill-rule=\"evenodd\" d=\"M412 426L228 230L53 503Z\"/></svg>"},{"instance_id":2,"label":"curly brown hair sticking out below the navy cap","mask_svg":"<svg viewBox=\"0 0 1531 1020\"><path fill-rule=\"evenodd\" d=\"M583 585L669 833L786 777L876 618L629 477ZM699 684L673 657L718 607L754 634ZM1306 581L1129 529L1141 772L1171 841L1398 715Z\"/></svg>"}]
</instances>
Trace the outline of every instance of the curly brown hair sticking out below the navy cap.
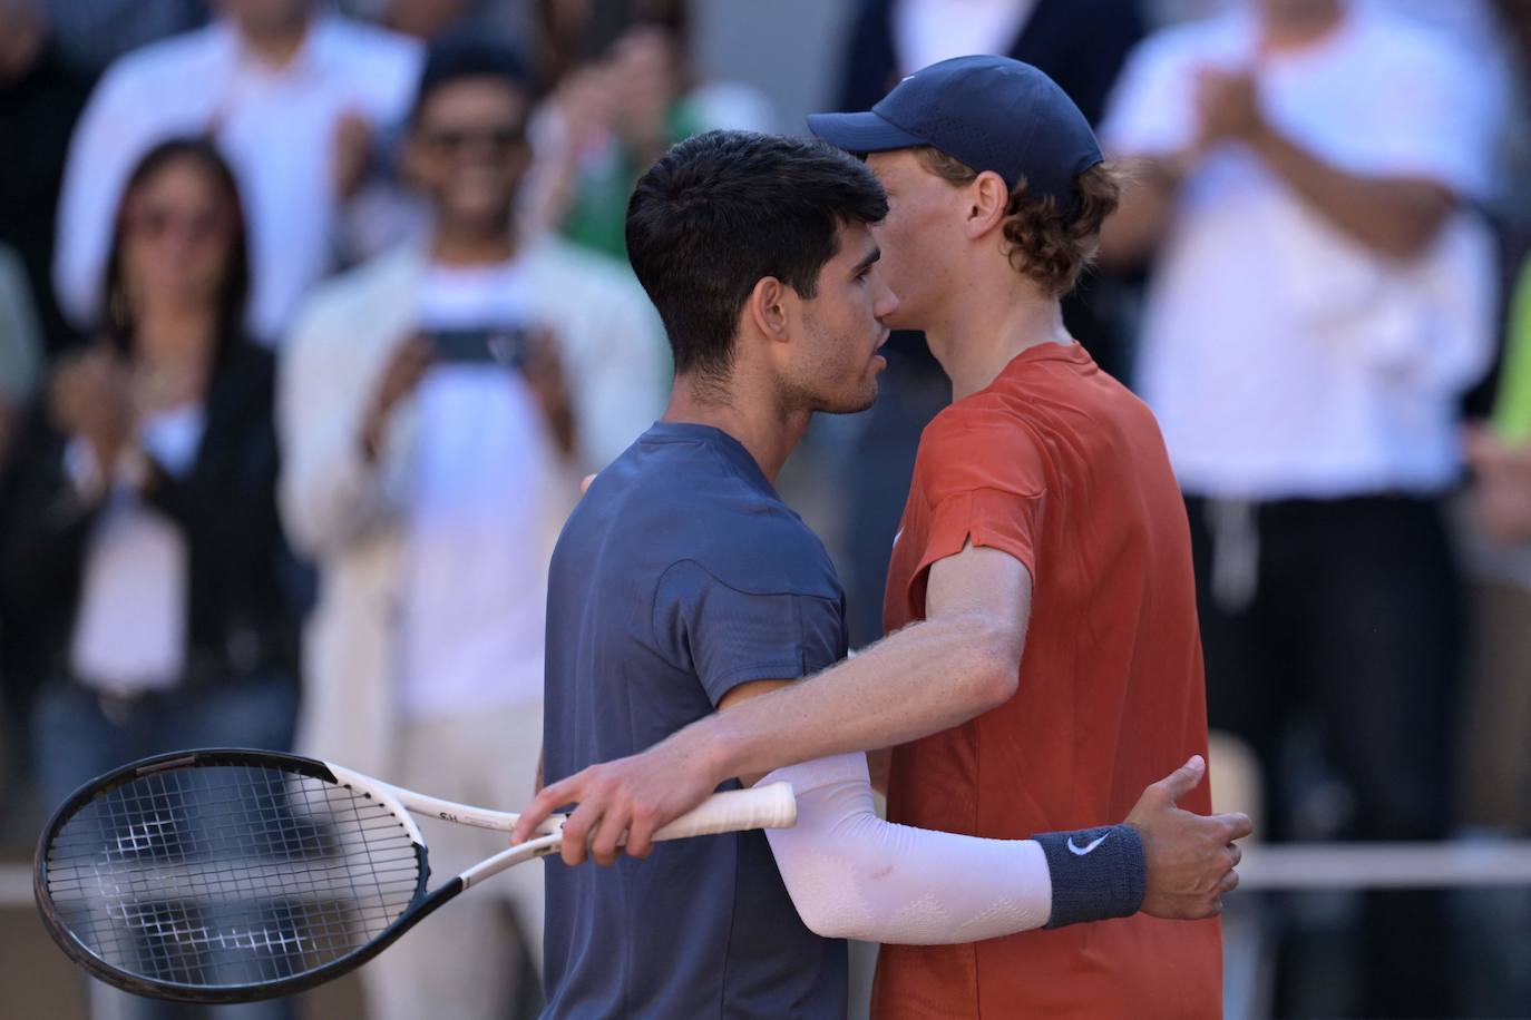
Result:
<instances>
[{"instance_id":1,"label":"curly brown hair sticking out below the navy cap","mask_svg":"<svg viewBox=\"0 0 1531 1020\"><path fill-rule=\"evenodd\" d=\"M926 170L954 185L965 185L978 171L939 148L914 150ZM1010 184L1004 206L1004 240L1010 245L1010 265L1047 294L1063 297L1073 291L1079 275L1095 261L1101 246L1101 223L1122 200L1122 173L1112 164L1096 164L1073 180L1073 211L1066 214L1052 197L1032 197L1026 179Z\"/></svg>"}]
</instances>

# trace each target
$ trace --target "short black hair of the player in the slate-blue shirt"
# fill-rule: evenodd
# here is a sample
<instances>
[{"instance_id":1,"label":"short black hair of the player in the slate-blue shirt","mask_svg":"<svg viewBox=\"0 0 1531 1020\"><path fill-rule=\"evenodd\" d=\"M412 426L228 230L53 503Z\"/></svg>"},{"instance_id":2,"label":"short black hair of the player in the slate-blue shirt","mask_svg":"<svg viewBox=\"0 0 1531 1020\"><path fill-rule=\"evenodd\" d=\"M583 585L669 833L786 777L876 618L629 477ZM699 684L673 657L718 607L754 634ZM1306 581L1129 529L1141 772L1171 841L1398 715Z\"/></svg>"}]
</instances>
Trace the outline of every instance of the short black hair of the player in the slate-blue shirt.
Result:
<instances>
[{"instance_id":1,"label":"short black hair of the player in the slate-blue shirt","mask_svg":"<svg viewBox=\"0 0 1531 1020\"><path fill-rule=\"evenodd\" d=\"M664 153L628 203L628 258L664 320L677 375L727 376L755 284L776 277L811 298L839 226L886 214L871 170L824 142L707 132Z\"/></svg>"}]
</instances>

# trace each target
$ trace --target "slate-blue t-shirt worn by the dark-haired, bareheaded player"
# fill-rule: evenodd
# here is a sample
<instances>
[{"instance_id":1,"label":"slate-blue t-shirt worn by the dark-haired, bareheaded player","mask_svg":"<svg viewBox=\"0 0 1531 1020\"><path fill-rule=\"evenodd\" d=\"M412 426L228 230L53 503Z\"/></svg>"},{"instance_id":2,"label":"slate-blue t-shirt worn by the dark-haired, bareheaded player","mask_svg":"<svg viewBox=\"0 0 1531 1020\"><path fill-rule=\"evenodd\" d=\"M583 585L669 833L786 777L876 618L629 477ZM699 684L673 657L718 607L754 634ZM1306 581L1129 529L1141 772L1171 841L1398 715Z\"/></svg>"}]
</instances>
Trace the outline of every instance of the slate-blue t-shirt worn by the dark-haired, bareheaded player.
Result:
<instances>
[{"instance_id":1,"label":"slate-blue t-shirt worn by the dark-haired, bareheaded player","mask_svg":"<svg viewBox=\"0 0 1531 1020\"><path fill-rule=\"evenodd\" d=\"M641 751L747 681L845 656L845 595L755 459L658 422L553 554L545 772ZM733 788L730 781L724 786ZM844 1017L845 944L808 931L761 832L547 866L545 1017Z\"/></svg>"}]
</instances>

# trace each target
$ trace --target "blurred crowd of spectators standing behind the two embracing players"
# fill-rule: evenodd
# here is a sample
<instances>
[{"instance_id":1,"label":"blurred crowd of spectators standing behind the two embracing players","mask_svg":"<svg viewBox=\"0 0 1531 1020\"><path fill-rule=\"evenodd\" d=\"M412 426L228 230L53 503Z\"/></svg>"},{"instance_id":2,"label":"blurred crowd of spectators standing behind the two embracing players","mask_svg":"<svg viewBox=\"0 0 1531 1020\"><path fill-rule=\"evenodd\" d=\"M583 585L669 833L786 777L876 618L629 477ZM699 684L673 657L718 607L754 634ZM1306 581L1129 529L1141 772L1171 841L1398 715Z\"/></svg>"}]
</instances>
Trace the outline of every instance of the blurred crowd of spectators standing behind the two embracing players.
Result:
<instances>
[{"instance_id":1,"label":"blurred crowd of spectators standing behind the two embracing players","mask_svg":"<svg viewBox=\"0 0 1531 1020\"><path fill-rule=\"evenodd\" d=\"M709 128L804 132L776 98L798 54L703 72L750 47L746 6L0 0L8 827L197 745L530 797L547 557L669 379L625 258L632 184ZM1531 0L775 17L808 14L842 40L818 109L1007 54L1130 168L1067 321L1164 428L1209 717L1255 762L1262 838L1531 833ZM857 644L951 396L919 335L888 361L784 482ZM498 843L453 829L433 855ZM534 1005L537 867L364 970L371 1015ZM1441 893L1272 910L1271 1008L1517 1014L1519 895L1487 953Z\"/></svg>"}]
</instances>

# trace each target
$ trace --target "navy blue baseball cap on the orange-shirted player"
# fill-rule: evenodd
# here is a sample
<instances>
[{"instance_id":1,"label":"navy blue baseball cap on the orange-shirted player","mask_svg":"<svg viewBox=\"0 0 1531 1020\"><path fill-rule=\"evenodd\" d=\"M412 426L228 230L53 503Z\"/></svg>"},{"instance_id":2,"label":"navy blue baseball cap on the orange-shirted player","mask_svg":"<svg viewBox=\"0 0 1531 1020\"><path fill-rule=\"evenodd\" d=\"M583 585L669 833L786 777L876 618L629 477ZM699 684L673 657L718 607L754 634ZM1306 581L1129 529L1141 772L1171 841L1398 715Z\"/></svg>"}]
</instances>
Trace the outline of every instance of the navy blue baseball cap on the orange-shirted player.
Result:
<instances>
[{"instance_id":1,"label":"navy blue baseball cap on the orange-shirted player","mask_svg":"<svg viewBox=\"0 0 1531 1020\"><path fill-rule=\"evenodd\" d=\"M867 113L810 113L808 130L851 153L934 145L1012 188L1073 206L1073 179L1102 162L1084 113L1058 84L1009 57L954 57L917 70Z\"/></svg>"}]
</instances>

